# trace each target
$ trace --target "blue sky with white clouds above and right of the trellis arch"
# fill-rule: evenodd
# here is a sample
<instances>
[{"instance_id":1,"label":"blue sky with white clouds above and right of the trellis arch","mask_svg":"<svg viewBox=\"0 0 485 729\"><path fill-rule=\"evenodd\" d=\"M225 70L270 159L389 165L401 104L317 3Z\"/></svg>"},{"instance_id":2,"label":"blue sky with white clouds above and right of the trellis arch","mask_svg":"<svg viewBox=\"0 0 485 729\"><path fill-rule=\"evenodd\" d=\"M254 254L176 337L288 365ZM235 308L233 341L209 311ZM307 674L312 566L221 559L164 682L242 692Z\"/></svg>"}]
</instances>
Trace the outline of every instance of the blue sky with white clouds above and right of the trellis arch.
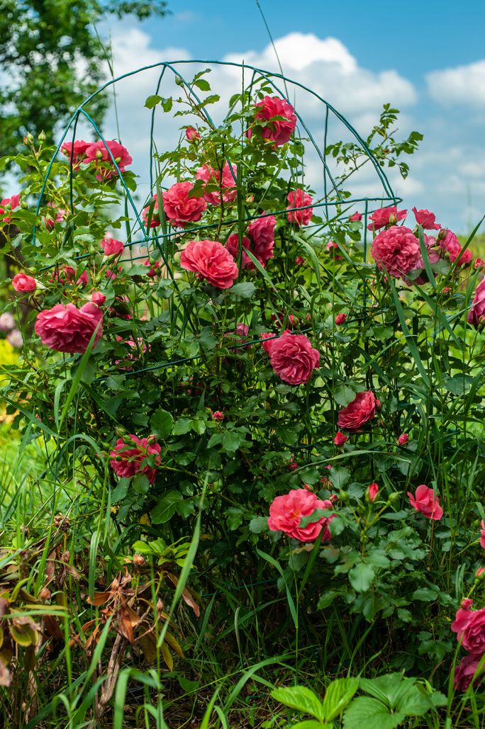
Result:
<instances>
[{"instance_id":1,"label":"blue sky with white clouds above and right of the trellis arch","mask_svg":"<svg viewBox=\"0 0 485 729\"><path fill-rule=\"evenodd\" d=\"M111 23L116 74L174 58L244 58L276 70L255 1L168 4L170 17ZM434 210L441 225L457 232L474 227L485 213L485 1L411 0L386 13L381 4L357 0L261 0L261 6L288 77L318 90L362 134L384 101L401 109L397 138L424 133L408 160L408 180L392 175L406 206ZM133 157L142 147L149 93L148 78L136 77L119 95L120 133Z\"/></svg>"}]
</instances>

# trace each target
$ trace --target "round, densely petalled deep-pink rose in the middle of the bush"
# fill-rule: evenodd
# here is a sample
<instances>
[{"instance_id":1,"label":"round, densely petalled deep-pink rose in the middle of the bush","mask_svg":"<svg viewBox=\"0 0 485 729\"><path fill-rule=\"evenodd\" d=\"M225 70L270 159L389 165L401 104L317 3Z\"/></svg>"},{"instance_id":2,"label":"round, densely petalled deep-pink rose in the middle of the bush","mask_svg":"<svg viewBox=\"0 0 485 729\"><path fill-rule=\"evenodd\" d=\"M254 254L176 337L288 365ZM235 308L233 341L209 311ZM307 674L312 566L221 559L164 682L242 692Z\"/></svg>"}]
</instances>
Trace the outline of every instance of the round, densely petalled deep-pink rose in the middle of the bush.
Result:
<instances>
[{"instance_id":1,"label":"round, densely petalled deep-pink rose in the middle of the bush","mask_svg":"<svg viewBox=\"0 0 485 729\"><path fill-rule=\"evenodd\" d=\"M318 367L320 353L304 334L285 332L272 341L269 361L283 382L301 385L309 381L311 373Z\"/></svg>"}]
</instances>

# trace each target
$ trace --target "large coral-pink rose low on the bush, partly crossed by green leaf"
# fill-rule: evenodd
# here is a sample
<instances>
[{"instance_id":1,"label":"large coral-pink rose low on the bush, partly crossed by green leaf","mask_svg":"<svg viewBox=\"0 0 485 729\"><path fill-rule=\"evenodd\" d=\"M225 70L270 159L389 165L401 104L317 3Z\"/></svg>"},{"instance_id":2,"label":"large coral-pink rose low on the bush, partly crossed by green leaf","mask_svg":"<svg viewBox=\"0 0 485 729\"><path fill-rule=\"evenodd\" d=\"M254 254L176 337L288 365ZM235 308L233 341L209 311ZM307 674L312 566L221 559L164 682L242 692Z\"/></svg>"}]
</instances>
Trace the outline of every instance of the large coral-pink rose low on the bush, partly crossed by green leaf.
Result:
<instances>
[{"instance_id":1,"label":"large coral-pink rose low on the bush, partly crossed by green leaf","mask_svg":"<svg viewBox=\"0 0 485 729\"><path fill-rule=\"evenodd\" d=\"M328 542L332 538L328 525L335 514L321 517L318 521L310 522L299 529L304 516L310 516L316 509L332 509L332 502L325 499L320 501L316 494L311 494L306 488L295 488L289 494L276 496L269 507L268 527L271 531L282 531L292 539L300 542L314 542L323 531L322 541Z\"/></svg>"}]
</instances>

